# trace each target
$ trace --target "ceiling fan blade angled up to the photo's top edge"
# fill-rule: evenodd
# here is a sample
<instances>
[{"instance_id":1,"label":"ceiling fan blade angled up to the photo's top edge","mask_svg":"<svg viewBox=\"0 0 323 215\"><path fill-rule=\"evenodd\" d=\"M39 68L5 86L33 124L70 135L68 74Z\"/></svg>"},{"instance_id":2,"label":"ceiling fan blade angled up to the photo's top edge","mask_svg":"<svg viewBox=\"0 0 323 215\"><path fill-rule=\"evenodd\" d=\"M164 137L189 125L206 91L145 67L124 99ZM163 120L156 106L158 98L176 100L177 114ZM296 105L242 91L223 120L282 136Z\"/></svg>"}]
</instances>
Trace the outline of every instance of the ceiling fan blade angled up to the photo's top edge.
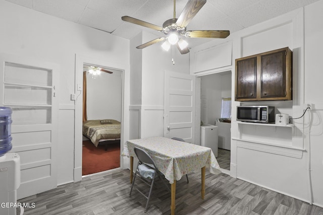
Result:
<instances>
[{"instance_id":1,"label":"ceiling fan blade angled up to the photo's top edge","mask_svg":"<svg viewBox=\"0 0 323 215\"><path fill-rule=\"evenodd\" d=\"M185 28L205 3L206 0L189 0L177 19L176 25L178 27Z\"/></svg>"}]
</instances>

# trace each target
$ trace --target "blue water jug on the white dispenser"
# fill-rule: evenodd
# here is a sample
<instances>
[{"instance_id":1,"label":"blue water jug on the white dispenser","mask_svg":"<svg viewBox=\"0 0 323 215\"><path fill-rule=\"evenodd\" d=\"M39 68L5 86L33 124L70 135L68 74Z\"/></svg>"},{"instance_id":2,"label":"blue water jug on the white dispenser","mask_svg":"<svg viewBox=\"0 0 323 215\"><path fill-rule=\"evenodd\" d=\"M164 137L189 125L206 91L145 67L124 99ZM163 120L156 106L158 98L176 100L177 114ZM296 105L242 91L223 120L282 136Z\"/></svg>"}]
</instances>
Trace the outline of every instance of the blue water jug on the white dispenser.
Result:
<instances>
[{"instance_id":1,"label":"blue water jug on the white dispenser","mask_svg":"<svg viewBox=\"0 0 323 215\"><path fill-rule=\"evenodd\" d=\"M10 107L0 107L0 157L12 149L11 114Z\"/></svg>"}]
</instances>

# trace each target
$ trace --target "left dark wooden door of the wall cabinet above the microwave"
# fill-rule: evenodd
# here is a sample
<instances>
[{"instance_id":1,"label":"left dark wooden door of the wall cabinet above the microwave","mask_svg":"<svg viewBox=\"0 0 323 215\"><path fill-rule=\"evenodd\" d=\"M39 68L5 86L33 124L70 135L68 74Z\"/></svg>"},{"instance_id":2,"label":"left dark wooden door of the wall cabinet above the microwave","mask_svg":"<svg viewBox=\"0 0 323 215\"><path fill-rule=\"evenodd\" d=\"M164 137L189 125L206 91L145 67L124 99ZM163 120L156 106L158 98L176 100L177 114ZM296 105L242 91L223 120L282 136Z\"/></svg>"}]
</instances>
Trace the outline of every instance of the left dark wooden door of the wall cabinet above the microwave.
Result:
<instances>
[{"instance_id":1,"label":"left dark wooden door of the wall cabinet above the microwave","mask_svg":"<svg viewBox=\"0 0 323 215\"><path fill-rule=\"evenodd\" d=\"M236 100L256 98L257 57L236 61Z\"/></svg>"}]
</instances>

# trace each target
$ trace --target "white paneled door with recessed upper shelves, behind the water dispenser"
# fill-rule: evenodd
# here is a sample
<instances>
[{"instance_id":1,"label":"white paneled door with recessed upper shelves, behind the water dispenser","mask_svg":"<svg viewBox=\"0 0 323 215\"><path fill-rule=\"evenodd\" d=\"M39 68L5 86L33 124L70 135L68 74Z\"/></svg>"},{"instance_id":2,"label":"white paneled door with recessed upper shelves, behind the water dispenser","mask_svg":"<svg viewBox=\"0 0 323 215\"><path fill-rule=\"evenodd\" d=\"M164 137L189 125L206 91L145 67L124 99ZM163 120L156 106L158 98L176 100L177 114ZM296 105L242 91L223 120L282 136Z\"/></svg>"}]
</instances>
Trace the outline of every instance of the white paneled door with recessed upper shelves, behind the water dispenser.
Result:
<instances>
[{"instance_id":1,"label":"white paneled door with recessed upper shelves, behind the water dispenser","mask_svg":"<svg viewBox=\"0 0 323 215\"><path fill-rule=\"evenodd\" d=\"M11 152L20 156L17 199L57 187L56 64L0 55L0 106L11 107Z\"/></svg>"}]
</instances>

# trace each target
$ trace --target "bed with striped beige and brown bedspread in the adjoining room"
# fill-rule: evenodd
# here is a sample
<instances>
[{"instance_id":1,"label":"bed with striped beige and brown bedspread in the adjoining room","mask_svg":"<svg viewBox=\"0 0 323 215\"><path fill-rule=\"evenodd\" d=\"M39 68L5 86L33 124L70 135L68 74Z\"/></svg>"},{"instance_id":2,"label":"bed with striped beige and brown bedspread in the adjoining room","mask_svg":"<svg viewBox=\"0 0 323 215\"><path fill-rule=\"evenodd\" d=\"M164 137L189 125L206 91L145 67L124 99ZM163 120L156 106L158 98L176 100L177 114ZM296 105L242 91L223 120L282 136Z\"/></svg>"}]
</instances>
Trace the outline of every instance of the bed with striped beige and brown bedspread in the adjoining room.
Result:
<instances>
[{"instance_id":1,"label":"bed with striped beige and brown bedspread in the adjoining room","mask_svg":"<svg viewBox=\"0 0 323 215\"><path fill-rule=\"evenodd\" d=\"M96 119L83 122L83 135L88 137L92 144L107 145L120 142L121 123L114 119Z\"/></svg>"}]
</instances>

